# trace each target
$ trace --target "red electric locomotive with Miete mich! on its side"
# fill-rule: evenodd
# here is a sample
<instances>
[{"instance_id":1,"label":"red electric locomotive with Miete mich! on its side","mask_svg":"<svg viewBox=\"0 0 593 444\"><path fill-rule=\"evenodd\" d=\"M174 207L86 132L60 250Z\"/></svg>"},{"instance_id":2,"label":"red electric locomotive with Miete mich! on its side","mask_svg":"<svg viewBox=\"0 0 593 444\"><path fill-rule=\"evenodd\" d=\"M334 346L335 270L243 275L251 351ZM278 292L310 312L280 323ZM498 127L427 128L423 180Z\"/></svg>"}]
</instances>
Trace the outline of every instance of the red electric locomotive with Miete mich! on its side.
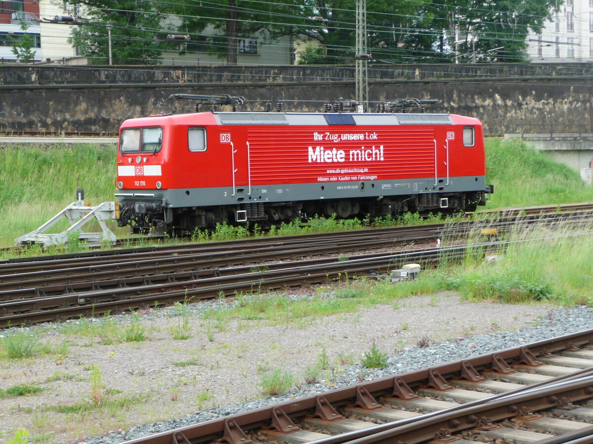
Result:
<instances>
[{"instance_id":1,"label":"red electric locomotive with Miete mich! on its side","mask_svg":"<svg viewBox=\"0 0 593 444\"><path fill-rule=\"evenodd\" d=\"M404 108L405 111L405 108ZM455 114L195 112L126 120L120 226L340 218L484 205L482 124Z\"/></svg>"}]
</instances>

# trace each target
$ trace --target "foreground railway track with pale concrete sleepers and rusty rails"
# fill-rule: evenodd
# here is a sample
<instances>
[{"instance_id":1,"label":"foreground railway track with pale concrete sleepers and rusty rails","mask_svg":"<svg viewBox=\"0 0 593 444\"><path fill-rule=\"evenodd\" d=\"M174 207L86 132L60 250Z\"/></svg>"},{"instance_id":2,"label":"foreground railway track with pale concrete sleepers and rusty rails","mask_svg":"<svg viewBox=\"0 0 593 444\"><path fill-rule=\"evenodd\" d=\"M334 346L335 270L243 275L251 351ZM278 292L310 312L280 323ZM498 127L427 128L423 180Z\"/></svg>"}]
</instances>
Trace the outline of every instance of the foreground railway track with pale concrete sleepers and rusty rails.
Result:
<instances>
[{"instance_id":1,"label":"foreground railway track with pale concrete sleepers and rusty rails","mask_svg":"<svg viewBox=\"0 0 593 444\"><path fill-rule=\"evenodd\" d=\"M361 382L126 444L593 441L593 330Z\"/></svg>"}]
</instances>

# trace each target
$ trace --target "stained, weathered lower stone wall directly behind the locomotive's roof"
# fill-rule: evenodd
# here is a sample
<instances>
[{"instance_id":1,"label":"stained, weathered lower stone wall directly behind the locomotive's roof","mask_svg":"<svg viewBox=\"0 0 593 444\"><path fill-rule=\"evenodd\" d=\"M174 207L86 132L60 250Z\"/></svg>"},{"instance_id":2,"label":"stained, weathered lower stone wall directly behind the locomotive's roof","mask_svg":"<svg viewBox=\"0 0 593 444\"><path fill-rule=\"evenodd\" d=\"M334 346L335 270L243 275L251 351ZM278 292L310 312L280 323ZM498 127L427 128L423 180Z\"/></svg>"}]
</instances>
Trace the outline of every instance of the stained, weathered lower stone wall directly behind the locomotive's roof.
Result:
<instances>
[{"instance_id":1,"label":"stained, weathered lower stone wall directly behind the locomotive's roof","mask_svg":"<svg viewBox=\"0 0 593 444\"><path fill-rule=\"evenodd\" d=\"M354 91L352 81L200 84L177 79L158 85L5 84L0 86L0 131L8 134L15 131L113 134L127 118L160 112L192 112L191 102L168 99L177 93L243 95L260 101L282 99L288 111L321 111L321 104L313 101L353 98ZM410 97L439 99L441 103L429 108L430 111L477 117L483 122L487 135L514 133L527 124L590 126L592 93L593 83L589 79L553 76L518 80L374 79L369 82L372 101ZM250 103L247 109L262 109L262 106L263 102ZM540 131L530 128L526 132Z\"/></svg>"}]
</instances>

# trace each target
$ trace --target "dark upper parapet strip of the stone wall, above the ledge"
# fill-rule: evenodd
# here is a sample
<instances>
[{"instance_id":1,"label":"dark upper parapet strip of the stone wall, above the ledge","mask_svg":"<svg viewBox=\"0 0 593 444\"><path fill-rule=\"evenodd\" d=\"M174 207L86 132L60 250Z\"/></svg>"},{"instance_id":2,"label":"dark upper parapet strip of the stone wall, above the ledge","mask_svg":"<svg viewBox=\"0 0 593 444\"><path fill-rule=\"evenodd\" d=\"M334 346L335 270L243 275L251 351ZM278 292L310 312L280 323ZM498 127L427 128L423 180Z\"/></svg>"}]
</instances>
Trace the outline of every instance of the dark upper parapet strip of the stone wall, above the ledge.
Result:
<instances>
[{"instance_id":1,"label":"dark upper parapet strip of the stone wall, above the ledge","mask_svg":"<svg viewBox=\"0 0 593 444\"><path fill-rule=\"evenodd\" d=\"M588 77L592 63L369 65L371 79ZM336 82L354 78L354 66L48 66L0 65L0 85L110 85L220 82Z\"/></svg>"}]
</instances>

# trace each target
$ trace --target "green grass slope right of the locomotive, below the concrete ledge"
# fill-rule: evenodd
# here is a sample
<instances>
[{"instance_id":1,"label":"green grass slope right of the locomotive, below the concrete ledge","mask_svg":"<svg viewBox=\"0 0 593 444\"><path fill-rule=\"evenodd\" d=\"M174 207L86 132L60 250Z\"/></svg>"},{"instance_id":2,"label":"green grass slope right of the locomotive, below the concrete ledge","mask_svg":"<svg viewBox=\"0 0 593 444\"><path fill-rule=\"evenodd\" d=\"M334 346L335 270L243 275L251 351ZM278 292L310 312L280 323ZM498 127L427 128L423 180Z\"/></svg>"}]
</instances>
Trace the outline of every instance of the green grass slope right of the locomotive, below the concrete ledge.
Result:
<instances>
[{"instance_id":1,"label":"green grass slope right of the locomotive, below the concrete ledge","mask_svg":"<svg viewBox=\"0 0 593 444\"><path fill-rule=\"evenodd\" d=\"M591 201L591 185L520 140L486 140L486 183L495 185L487 208L560 205Z\"/></svg>"}]
</instances>

